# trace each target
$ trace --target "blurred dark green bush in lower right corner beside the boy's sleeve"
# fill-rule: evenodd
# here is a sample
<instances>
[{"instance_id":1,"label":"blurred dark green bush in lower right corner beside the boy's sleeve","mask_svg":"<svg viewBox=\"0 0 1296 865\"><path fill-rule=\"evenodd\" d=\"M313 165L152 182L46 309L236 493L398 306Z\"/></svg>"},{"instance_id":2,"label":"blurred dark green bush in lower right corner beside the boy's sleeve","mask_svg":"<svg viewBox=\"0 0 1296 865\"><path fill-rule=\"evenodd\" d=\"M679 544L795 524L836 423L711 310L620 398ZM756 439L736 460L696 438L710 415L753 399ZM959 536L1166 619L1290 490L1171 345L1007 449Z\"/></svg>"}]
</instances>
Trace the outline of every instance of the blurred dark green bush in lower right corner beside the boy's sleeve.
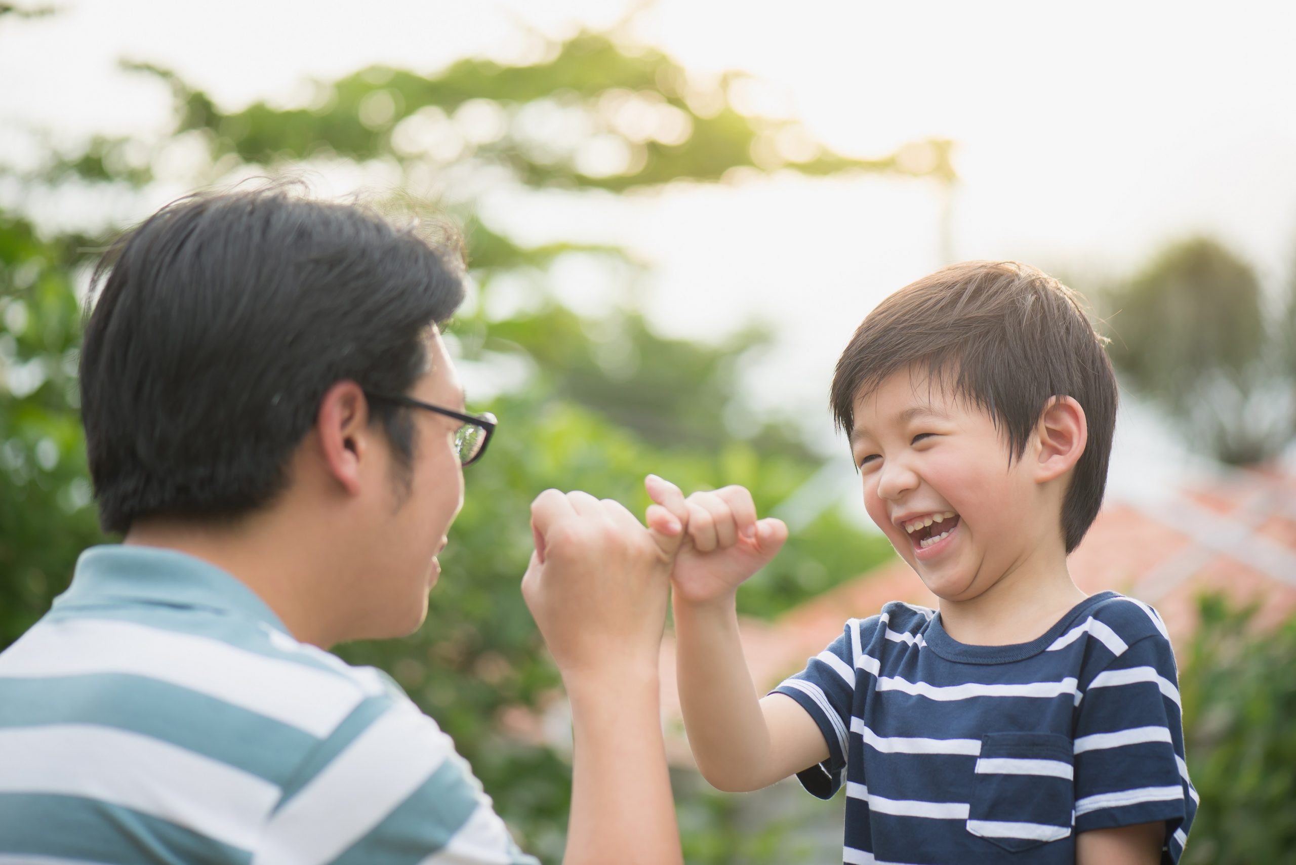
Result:
<instances>
[{"instance_id":1,"label":"blurred dark green bush in lower right corner beside the boy's sleeve","mask_svg":"<svg viewBox=\"0 0 1296 865\"><path fill-rule=\"evenodd\" d=\"M1256 609L1221 597L1200 603L1201 624L1179 677L1187 760L1201 795L1185 865L1296 862L1296 619L1271 632Z\"/></svg>"}]
</instances>

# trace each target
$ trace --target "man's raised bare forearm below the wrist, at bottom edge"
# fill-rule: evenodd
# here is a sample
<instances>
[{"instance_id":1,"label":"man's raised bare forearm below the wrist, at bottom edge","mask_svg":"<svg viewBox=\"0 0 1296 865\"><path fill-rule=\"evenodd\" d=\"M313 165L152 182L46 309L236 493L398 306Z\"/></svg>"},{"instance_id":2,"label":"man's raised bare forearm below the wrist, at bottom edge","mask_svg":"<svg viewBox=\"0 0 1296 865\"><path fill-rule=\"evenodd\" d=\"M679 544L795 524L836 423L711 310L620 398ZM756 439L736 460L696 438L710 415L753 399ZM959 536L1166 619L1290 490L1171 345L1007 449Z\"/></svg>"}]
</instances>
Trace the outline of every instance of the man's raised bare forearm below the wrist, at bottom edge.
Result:
<instances>
[{"instance_id":1,"label":"man's raised bare forearm below the wrist, at bottom edge","mask_svg":"<svg viewBox=\"0 0 1296 865\"><path fill-rule=\"evenodd\" d=\"M682 862L656 658L566 685L574 770L564 865Z\"/></svg>"}]
</instances>

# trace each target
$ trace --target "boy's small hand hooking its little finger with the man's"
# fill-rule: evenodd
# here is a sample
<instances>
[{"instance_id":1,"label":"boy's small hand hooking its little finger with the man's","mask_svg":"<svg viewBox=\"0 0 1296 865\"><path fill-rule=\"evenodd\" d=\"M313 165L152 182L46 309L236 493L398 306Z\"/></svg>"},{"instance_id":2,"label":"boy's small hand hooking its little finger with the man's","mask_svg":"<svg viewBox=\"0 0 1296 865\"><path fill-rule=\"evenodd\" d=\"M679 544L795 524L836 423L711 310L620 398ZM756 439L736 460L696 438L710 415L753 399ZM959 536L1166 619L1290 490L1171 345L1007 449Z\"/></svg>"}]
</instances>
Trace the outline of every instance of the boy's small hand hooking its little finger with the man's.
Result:
<instances>
[{"instance_id":1,"label":"boy's small hand hooking its little finger with the man's","mask_svg":"<svg viewBox=\"0 0 1296 865\"><path fill-rule=\"evenodd\" d=\"M682 499L679 487L648 475L647 488L654 502L677 511ZM745 487L695 492L683 502L688 513L687 536L671 571L679 600L706 603L736 592L788 539L781 519L756 518L756 502Z\"/></svg>"}]
</instances>

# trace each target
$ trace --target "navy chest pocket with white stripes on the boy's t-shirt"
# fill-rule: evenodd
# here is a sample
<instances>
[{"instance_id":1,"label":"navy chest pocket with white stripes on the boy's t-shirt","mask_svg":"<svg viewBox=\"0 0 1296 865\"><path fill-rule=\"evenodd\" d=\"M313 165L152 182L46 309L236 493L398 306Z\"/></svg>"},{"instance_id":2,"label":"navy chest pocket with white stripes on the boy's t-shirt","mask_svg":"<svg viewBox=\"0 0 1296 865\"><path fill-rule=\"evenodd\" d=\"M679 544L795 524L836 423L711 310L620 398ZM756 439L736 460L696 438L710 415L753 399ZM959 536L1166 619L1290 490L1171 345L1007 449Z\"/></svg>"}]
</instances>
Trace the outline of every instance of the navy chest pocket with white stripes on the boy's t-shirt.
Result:
<instances>
[{"instance_id":1,"label":"navy chest pocket with white stripes on the boy's t-shirt","mask_svg":"<svg viewBox=\"0 0 1296 865\"><path fill-rule=\"evenodd\" d=\"M1056 733L981 737L967 829L1007 851L1070 835L1072 745Z\"/></svg>"}]
</instances>

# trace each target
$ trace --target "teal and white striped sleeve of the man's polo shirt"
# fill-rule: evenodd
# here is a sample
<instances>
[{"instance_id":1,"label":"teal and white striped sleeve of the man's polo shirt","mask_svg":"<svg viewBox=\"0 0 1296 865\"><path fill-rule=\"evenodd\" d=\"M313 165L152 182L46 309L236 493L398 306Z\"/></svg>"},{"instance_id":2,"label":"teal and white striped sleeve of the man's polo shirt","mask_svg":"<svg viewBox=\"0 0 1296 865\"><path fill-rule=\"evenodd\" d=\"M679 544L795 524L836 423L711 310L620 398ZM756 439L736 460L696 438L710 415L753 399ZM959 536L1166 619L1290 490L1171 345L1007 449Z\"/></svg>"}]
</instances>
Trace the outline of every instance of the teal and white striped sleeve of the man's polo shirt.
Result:
<instances>
[{"instance_id":1,"label":"teal and white striped sleeve of the man's polo shirt","mask_svg":"<svg viewBox=\"0 0 1296 865\"><path fill-rule=\"evenodd\" d=\"M255 862L539 865L522 853L468 763L408 699L343 724L276 808Z\"/></svg>"}]
</instances>

